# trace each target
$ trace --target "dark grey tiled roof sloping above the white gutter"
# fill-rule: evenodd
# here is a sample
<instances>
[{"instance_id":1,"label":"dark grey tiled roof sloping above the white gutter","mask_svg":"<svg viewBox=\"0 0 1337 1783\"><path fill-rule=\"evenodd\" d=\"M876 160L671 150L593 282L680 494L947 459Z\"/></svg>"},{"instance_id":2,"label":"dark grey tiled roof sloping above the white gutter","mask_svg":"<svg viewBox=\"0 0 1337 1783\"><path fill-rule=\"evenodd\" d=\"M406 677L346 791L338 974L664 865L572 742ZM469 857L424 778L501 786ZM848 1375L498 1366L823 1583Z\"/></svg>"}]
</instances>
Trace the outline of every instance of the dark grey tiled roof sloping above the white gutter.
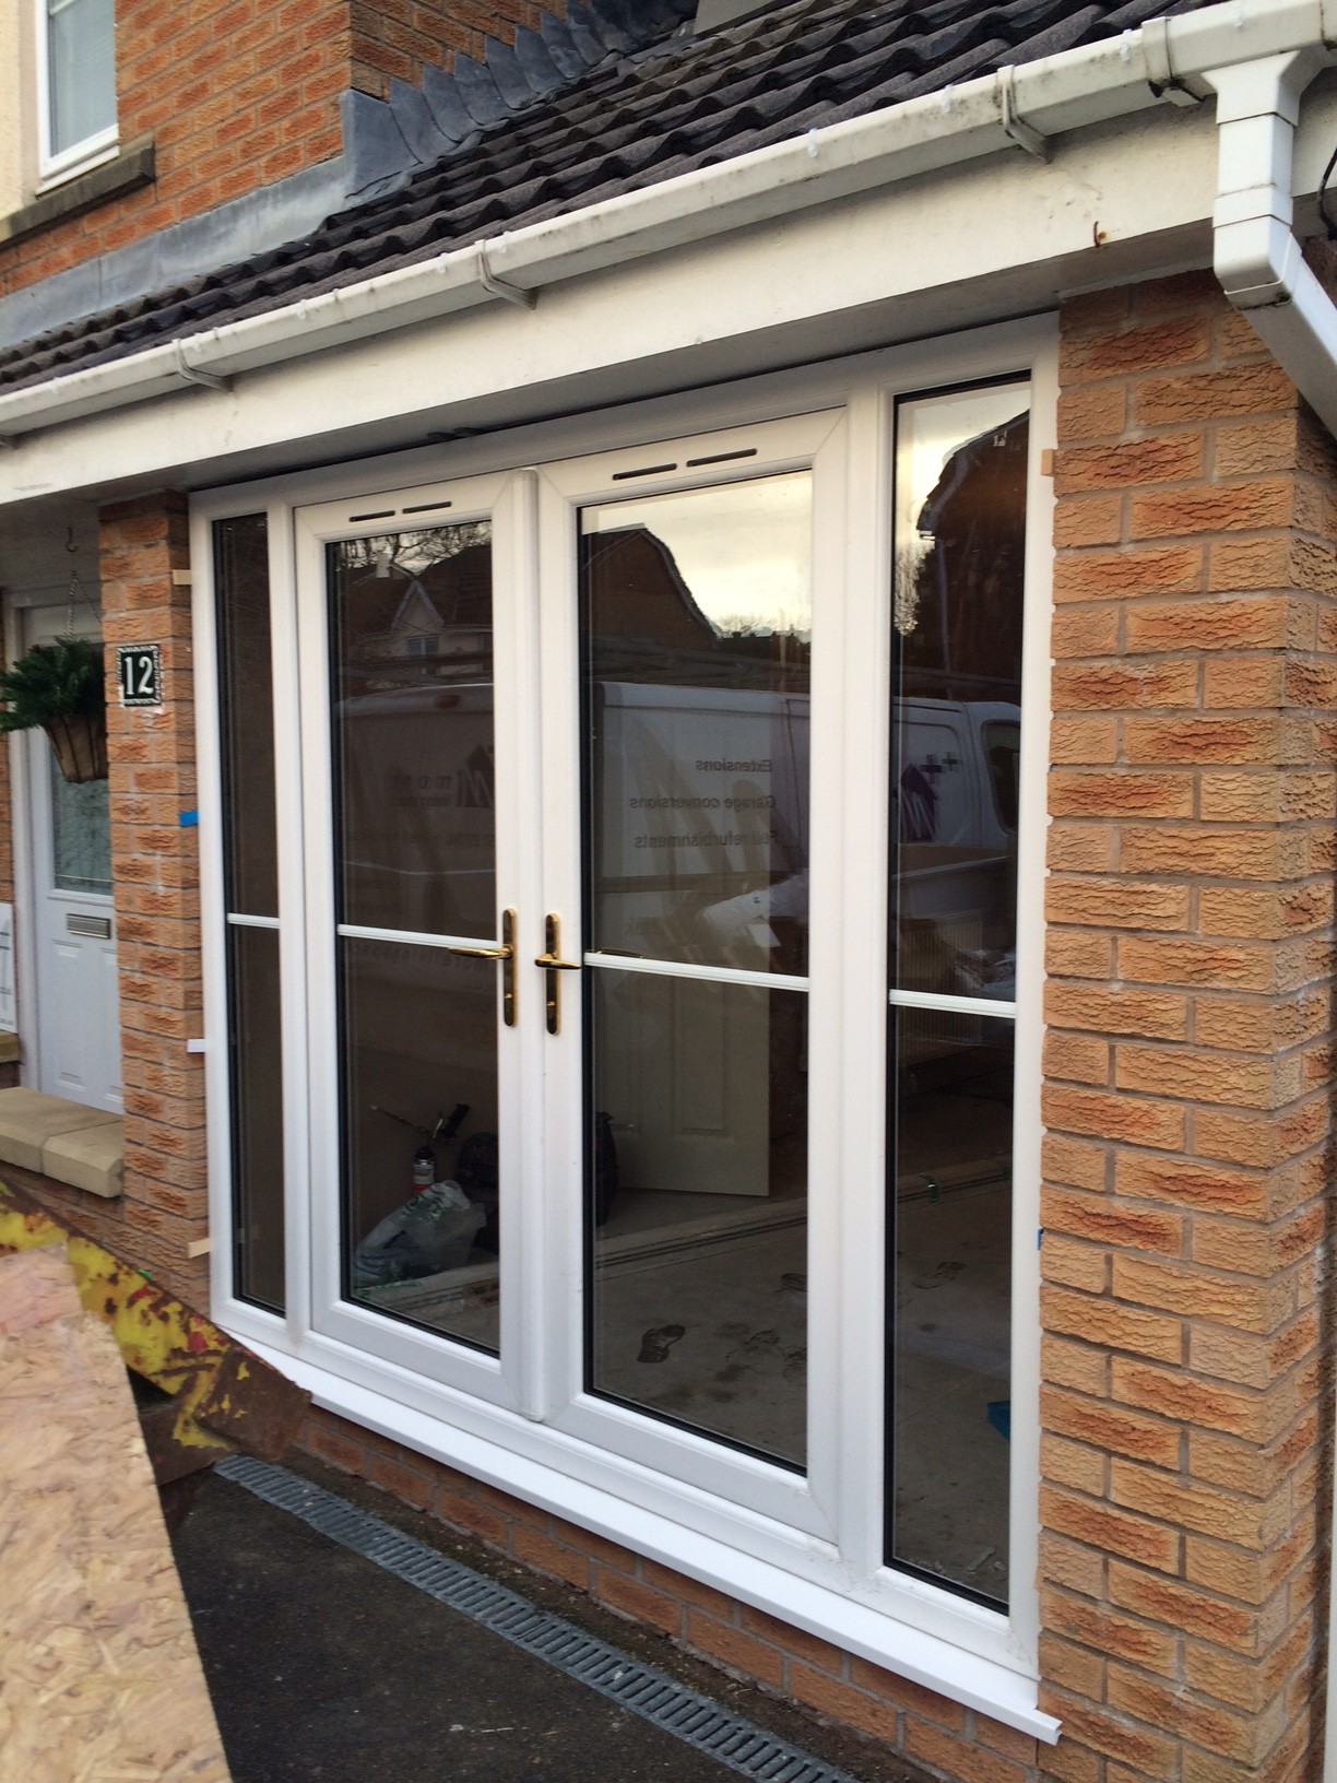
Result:
<instances>
[{"instance_id":1,"label":"dark grey tiled roof sloping above the white gutter","mask_svg":"<svg viewBox=\"0 0 1337 1783\"><path fill-rule=\"evenodd\" d=\"M574 0L398 105L446 152L283 248L0 351L0 389L241 321L371 273L1034 61L1207 0L790 0L699 37L695 0ZM531 41L524 41L526 36ZM389 109L387 109L389 111Z\"/></svg>"}]
</instances>

